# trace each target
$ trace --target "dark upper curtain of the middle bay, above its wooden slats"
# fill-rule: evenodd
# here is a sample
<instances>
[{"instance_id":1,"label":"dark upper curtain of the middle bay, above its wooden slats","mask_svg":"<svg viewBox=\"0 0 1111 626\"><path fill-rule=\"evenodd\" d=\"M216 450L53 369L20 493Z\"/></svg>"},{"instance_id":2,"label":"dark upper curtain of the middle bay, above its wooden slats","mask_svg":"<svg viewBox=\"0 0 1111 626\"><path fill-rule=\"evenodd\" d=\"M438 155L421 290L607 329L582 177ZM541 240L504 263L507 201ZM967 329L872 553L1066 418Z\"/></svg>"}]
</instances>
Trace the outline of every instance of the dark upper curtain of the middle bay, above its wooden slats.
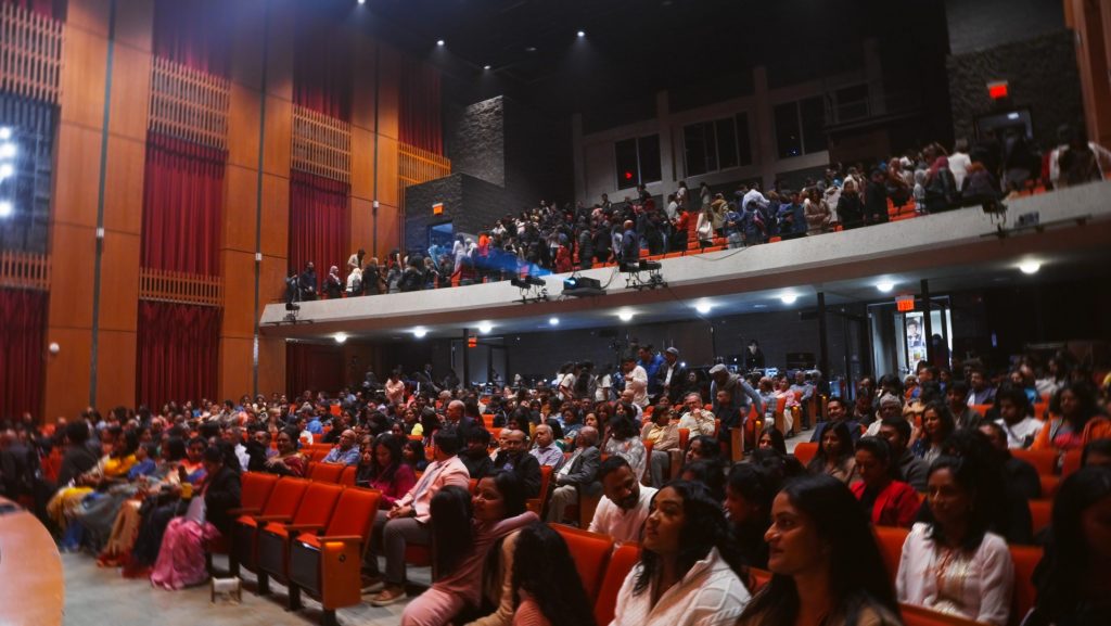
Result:
<instances>
[{"instance_id":1,"label":"dark upper curtain of the middle bay, above its wooden slats","mask_svg":"<svg viewBox=\"0 0 1111 626\"><path fill-rule=\"evenodd\" d=\"M306 7L312 7L306 3ZM310 24L311 20L302 21ZM293 53L293 103L351 121L352 66L350 40L336 27L298 28Z\"/></svg>"}]
</instances>

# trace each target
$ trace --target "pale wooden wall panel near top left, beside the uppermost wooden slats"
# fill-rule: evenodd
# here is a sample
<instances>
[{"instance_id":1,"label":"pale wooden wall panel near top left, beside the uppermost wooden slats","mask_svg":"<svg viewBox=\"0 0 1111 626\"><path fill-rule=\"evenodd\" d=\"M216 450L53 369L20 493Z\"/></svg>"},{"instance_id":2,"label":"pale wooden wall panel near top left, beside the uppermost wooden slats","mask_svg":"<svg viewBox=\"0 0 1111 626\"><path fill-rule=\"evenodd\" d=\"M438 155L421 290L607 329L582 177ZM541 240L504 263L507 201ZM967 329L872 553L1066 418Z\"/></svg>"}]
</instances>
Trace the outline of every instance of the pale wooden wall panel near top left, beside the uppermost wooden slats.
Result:
<instances>
[{"instance_id":1,"label":"pale wooden wall panel near top left, beside the uppermost wooden slats","mask_svg":"<svg viewBox=\"0 0 1111 626\"><path fill-rule=\"evenodd\" d=\"M108 40L67 23L62 46L61 121L100 128L104 119Z\"/></svg>"}]
</instances>

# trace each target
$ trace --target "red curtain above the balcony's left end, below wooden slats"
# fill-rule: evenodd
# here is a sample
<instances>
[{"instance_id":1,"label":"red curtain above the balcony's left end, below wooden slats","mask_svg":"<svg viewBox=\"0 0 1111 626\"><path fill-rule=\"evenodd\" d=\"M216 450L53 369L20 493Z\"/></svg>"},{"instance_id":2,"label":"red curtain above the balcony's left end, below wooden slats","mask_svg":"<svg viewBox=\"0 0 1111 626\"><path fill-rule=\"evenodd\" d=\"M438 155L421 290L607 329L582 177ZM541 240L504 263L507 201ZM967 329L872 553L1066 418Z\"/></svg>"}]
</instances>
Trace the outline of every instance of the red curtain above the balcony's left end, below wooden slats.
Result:
<instances>
[{"instance_id":1,"label":"red curtain above the balcony's left end, below wooden slats","mask_svg":"<svg viewBox=\"0 0 1111 626\"><path fill-rule=\"evenodd\" d=\"M301 271L312 261L319 286L329 266L339 266L346 275L351 256L351 186L293 170L289 189L289 269Z\"/></svg>"}]
</instances>

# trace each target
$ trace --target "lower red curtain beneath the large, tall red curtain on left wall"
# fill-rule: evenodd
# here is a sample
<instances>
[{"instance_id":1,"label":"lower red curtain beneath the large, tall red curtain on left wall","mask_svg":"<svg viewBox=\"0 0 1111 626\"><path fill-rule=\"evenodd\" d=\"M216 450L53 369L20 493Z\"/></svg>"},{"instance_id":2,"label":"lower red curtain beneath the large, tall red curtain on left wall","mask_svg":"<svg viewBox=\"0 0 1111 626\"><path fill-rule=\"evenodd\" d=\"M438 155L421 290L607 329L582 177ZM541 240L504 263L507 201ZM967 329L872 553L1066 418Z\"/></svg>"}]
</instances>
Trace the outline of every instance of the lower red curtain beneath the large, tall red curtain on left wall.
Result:
<instances>
[{"instance_id":1,"label":"lower red curtain beneath the large, tall red curtain on left wall","mask_svg":"<svg viewBox=\"0 0 1111 626\"><path fill-rule=\"evenodd\" d=\"M139 300L137 404L216 397L220 317L216 307Z\"/></svg>"}]
</instances>

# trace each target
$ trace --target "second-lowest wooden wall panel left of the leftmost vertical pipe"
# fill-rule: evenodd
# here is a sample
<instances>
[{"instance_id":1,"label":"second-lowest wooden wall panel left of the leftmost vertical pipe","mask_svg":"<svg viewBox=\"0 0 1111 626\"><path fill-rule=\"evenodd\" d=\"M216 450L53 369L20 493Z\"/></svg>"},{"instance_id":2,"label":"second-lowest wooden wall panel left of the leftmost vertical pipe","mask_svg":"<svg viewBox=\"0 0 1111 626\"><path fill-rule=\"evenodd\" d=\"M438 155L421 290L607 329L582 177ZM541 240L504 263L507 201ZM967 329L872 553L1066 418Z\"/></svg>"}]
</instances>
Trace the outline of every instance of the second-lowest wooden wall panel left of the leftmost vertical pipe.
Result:
<instances>
[{"instance_id":1,"label":"second-lowest wooden wall panel left of the leftmost vertical pipe","mask_svg":"<svg viewBox=\"0 0 1111 626\"><path fill-rule=\"evenodd\" d=\"M92 259L97 255L96 230L54 223L50 249L54 255L50 276L49 326L92 328ZM87 359L86 367L88 366Z\"/></svg>"}]
</instances>

